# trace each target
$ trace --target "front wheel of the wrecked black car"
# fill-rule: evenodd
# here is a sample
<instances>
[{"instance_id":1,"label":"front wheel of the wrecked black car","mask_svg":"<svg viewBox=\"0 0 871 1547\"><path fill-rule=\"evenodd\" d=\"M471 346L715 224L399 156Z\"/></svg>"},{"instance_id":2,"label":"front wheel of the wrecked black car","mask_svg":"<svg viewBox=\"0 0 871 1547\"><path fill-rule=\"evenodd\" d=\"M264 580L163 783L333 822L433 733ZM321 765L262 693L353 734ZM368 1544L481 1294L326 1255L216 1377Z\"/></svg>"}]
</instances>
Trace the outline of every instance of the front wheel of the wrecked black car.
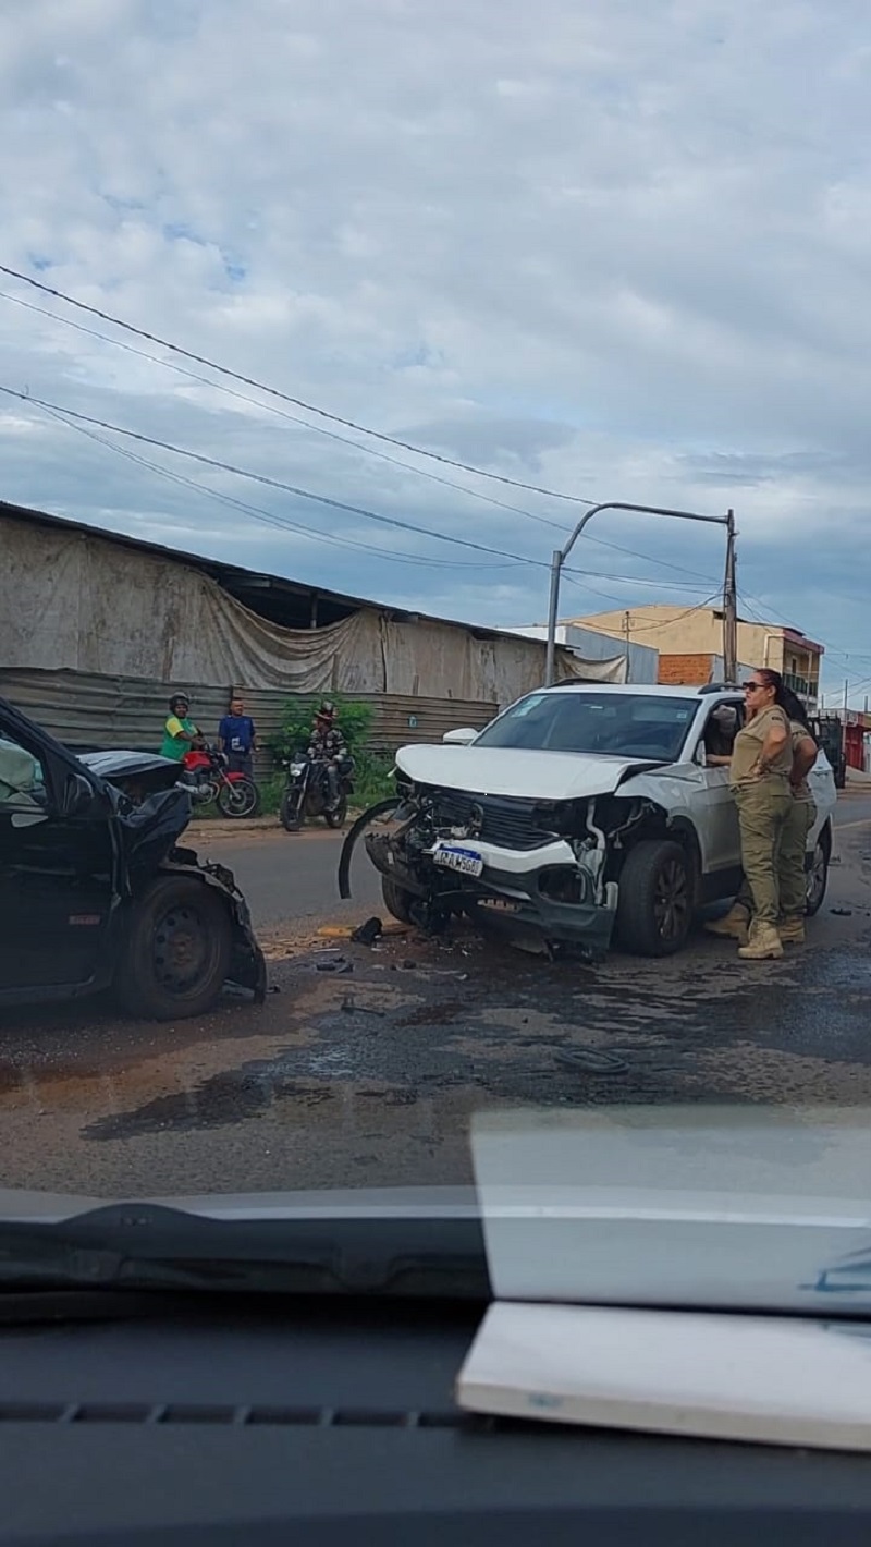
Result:
<instances>
[{"instance_id":1,"label":"front wheel of the wrecked black car","mask_svg":"<svg viewBox=\"0 0 871 1547\"><path fill-rule=\"evenodd\" d=\"M232 948L234 927L221 897L187 876L161 876L133 903L116 995L135 1016L204 1015L224 985Z\"/></svg>"}]
</instances>

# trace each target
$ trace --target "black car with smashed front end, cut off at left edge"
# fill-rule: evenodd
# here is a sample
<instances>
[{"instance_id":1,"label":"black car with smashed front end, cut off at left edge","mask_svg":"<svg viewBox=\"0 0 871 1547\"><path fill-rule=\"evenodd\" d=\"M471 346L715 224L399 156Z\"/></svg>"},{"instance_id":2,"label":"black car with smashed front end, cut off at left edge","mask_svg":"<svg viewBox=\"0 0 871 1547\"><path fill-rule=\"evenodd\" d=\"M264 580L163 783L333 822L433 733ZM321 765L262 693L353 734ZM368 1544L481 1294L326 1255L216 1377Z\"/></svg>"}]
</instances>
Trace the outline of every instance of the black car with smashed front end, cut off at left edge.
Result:
<instances>
[{"instance_id":1,"label":"black car with smashed front end, cut off at left edge","mask_svg":"<svg viewBox=\"0 0 871 1547\"><path fill-rule=\"evenodd\" d=\"M248 903L179 848L190 794L159 783L132 800L0 699L0 1006L113 987L130 1013L172 1019L224 982L263 999Z\"/></svg>"}]
</instances>

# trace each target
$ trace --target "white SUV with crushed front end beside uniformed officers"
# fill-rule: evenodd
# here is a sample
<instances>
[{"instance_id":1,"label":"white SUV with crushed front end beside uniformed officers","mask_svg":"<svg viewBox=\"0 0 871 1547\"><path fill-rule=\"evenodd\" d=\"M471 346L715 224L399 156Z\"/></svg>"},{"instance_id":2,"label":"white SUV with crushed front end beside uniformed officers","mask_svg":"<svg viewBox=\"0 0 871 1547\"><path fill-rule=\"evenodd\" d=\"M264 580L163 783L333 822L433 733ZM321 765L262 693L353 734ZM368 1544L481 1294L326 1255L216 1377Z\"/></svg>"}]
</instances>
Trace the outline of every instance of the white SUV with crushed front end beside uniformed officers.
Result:
<instances>
[{"instance_id":1,"label":"white SUV with crushed front end beside uniformed officers","mask_svg":"<svg viewBox=\"0 0 871 1547\"><path fill-rule=\"evenodd\" d=\"M387 908L419 922L487 914L591 958L614 931L642 956L678 951L695 910L741 879L727 769L707 756L729 752L743 716L735 688L560 684L481 732L449 732L449 746L402 747L401 806L365 840ZM811 787L817 913L837 801L825 753Z\"/></svg>"}]
</instances>

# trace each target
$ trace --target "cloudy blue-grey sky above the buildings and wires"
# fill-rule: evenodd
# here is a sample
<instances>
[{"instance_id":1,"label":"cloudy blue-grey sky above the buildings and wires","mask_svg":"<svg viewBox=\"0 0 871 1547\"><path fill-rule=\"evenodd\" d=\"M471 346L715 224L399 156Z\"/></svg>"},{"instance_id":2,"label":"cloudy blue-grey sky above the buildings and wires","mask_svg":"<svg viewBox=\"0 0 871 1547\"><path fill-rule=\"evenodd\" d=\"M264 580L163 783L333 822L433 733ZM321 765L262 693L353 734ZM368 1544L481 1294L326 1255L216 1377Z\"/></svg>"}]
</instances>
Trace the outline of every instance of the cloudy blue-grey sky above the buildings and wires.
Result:
<instances>
[{"instance_id":1,"label":"cloudy blue-grey sky above the buildings and wires","mask_svg":"<svg viewBox=\"0 0 871 1547\"><path fill-rule=\"evenodd\" d=\"M0 263L515 483L733 506L746 616L871 690L866 0L31 0L0 14ZM545 616L580 506L2 274L0 356L31 399L498 552L14 398L2 498L446 616ZM721 583L716 529L589 532L563 614Z\"/></svg>"}]
</instances>

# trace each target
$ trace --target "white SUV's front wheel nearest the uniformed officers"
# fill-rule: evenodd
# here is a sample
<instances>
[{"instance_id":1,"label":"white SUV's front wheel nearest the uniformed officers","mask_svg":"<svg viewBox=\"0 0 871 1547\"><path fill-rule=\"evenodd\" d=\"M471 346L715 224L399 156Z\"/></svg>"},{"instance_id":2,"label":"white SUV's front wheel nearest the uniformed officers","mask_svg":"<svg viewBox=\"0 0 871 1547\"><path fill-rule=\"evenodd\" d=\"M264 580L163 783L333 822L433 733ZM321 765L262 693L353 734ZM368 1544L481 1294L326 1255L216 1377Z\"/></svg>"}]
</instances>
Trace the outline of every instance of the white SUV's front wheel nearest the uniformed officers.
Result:
<instances>
[{"instance_id":1,"label":"white SUV's front wheel nearest the uniformed officers","mask_svg":"<svg viewBox=\"0 0 871 1547\"><path fill-rule=\"evenodd\" d=\"M617 939L636 956L673 956L693 922L693 876L679 843L648 838L620 873Z\"/></svg>"}]
</instances>

